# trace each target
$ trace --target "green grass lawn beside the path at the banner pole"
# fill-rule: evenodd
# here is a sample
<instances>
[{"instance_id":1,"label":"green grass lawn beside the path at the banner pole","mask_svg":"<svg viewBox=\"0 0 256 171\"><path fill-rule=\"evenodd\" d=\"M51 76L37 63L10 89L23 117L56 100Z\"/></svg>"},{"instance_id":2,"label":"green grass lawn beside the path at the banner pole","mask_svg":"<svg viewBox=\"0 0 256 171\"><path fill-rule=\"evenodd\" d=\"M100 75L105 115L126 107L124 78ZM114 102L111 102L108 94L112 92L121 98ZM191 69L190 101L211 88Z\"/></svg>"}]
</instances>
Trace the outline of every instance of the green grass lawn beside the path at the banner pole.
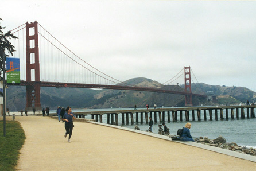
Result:
<instances>
[{"instance_id":1,"label":"green grass lawn beside the path at the banner pole","mask_svg":"<svg viewBox=\"0 0 256 171\"><path fill-rule=\"evenodd\" d=\"M6 121L6 137L3 137L3 121L0 121L0 170L15 170L25 138L17 121Z\"/></svg>"}]
</instances>

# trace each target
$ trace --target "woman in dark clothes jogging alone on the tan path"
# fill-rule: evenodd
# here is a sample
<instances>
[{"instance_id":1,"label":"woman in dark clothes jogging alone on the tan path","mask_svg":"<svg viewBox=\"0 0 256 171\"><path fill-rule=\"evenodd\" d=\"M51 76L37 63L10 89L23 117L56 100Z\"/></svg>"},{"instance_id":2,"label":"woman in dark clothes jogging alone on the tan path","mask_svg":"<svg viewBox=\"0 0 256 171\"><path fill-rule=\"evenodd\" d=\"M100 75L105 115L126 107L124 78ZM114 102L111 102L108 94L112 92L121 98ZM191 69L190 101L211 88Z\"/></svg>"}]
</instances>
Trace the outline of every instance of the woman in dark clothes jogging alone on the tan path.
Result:
<instances>
[{"instance_id":1,"label":"woman in dark clothes jogging alone on the tan path","mask_svg":"<svg viewBox=\"0 0 256 171\"><path fill-rule=\"evenodd\" d=\"M66 130L66 133L65 133L64 137L66 138L67 135L69 134L68 135L68 142L70 142L70 138L71 138L73 127L74 127L73 119L76 119L76 118L72 113L71 107L68 106L66 108L66 112L63 116L63 121L65 121L65 130Z\"/></svg>"}]
</instances>

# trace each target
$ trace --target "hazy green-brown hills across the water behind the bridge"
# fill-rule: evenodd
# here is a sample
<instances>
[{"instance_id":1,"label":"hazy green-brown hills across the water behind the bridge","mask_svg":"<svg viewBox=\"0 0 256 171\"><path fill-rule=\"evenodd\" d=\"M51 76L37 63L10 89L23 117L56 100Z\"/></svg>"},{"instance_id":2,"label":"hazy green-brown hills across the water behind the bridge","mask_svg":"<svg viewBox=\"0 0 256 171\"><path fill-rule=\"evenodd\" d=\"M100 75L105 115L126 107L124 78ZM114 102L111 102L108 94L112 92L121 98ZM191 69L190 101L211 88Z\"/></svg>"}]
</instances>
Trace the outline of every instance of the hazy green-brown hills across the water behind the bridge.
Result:
<instances>
[{"instance_id":1,"label":"hazy green-brown hills across the water behind the bridge","mask_svg":"<svg viewBox=\"0 0 256 171\"><path fill-rule=\"evenodd\" d=\"M157 81L143 77L129 79L127 84L139 87L154 87L164 90L184 92L184 85L162 85ZM193 106L216 104L239 104L256 100L256 93L244 87L225 87L219 85L207 85L204 83L192 84L192 91L201 94L215 95L216 102L207 101L204 98L193 97ZM26 88L10 86L6 90L7 108L10 111L24 110L26 106ZM184 95L166 94L158 92L129 91L129 90L92 90L89 88L55 88L41 87L41 106L56 109L57 106L71 106L72 108L131 108L145 107L149 104L153 107L184 106Z\"/></svg>"}]
</instances>

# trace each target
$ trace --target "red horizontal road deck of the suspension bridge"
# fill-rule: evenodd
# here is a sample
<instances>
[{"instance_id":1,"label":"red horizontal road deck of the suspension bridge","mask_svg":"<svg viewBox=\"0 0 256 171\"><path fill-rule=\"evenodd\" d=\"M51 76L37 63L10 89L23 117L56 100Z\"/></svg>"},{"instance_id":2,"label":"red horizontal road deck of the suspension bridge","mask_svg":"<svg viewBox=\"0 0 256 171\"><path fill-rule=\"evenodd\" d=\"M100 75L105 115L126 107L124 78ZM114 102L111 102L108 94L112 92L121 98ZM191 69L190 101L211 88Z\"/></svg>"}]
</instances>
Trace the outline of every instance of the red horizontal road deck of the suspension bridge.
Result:
<instances>
[{"instance_id":1,"label":"red horizontal road deck of the suspension bridge","mask_svg":"<svg viewBox=\"0 0 256 171\"><path fill-rule=\"evenodd\" d=\"M206 98L205 95L200 94L191 94L188 92L181 91L171 91L171 90L162 90L160 88L150 88L150 87L131 87L131 86L122 86L122 85L102 85L102 84L78 84L78 83L57 83L57 82L36 82L36 81L21 81L22 86L26 85L36 85L40 84L41 87L73 87L73 88L100 88L100 89L113 89L113 90L134 90L134 91L150 91L150 92L162 92L170 94L179 94L179 95L192 95L198 96L201 98Z\"/></svg>"}]
</instances>

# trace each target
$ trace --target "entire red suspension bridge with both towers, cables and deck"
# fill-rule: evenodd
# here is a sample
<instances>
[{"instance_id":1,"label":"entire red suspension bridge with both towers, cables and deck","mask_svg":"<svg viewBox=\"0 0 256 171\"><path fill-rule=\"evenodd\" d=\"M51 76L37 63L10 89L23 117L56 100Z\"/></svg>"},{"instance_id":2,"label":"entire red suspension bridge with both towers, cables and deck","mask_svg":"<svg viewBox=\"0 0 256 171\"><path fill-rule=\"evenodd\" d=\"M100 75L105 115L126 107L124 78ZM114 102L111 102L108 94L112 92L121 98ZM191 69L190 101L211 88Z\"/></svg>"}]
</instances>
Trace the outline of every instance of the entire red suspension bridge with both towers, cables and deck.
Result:
<instances>
[{"instance_id":1,"label":"entire red suspension bridge with both towers, cables and deck","mask_svg":"<svg viewBox=\"0 0 256 171\"><path fill-rule=\"evenodd\" d=\"M169 85L184 75L184 92L164 90L161 87L138 87L114 79L92 67L61 44L37 21L26 22L11 30L11 33L18 37L18 40L13 42L16 50L14 57L20 58L20 85L26 86L27 110L41 109L40 87L100 88L179 94L185 95L186 106L192 106L192 96L206 98L203 93L192 93L191 67L184 67L163 84Z\"/></svg>"}]
</instances>

